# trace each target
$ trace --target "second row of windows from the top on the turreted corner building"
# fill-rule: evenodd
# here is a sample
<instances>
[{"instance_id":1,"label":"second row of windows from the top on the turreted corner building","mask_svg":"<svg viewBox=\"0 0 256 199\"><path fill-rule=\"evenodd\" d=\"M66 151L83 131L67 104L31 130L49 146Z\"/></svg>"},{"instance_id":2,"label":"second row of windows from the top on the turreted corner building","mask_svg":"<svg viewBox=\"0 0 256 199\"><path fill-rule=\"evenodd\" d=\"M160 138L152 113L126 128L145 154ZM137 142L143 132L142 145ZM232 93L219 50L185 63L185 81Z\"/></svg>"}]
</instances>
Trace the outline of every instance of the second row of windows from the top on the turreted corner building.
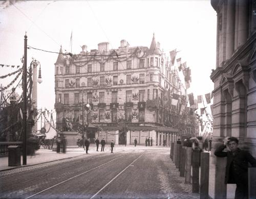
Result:
<instances>
[{"instance_id":1,"label":"second row of windows from the top on the turreted corner building","mask_svg":"<svg viewBox=\"0 0 256 199\"><path fill-rule=\"evenodd\" d=\"M133 79L134 77L132 77L132 75L126 75L126 84L132 84L137 83L136 79ZM150 81L153 81L153 73L150 73ZM159 82L161 84L161 76L159 75ZM145 83L145 74L139 74L139 79L138 79L138 83L139 84L143 84ZM65 80L65 88L68 89L71 85L75 85L76 88L80 87L80 78L77 78L75 80L75 82L70 82L69 79ZM118 84L118 76L115 75L113 76L113 85L117 85ZM99 85L103 86L105 85L105 77L100 77L99 78ZM56 81L56 87L59 87L58 85L58 81ZM92 77L88 77L87 78L87 86L88 87L92 87L93 86L93 79Z\"/></svg>"}]
</instances>

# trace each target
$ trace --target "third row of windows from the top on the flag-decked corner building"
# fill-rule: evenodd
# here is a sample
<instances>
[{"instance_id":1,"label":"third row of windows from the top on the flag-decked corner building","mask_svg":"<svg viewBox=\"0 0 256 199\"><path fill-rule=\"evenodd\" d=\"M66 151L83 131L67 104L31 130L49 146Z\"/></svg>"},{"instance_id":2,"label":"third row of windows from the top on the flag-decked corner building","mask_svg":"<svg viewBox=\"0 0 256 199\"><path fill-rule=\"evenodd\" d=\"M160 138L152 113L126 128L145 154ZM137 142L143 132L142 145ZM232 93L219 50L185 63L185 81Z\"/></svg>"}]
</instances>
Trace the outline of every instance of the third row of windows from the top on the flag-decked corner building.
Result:
<instances>
[{"instance_id":1,"label":"third row of windows from the top on the flag-decked corner building","mask_svg":"<svg viewBox=\"0 0 256 199\"><path fill-rule=\"evenodd\" d=\"M144 102L145 101L145 96L146 91L145 90L139 90L139 96L133 96L132 91L126 91L126 102L132 102L134 98L139 99L139 102ZM57 103L62 103L61 100L62 94L58 94L57 98ZM64 104L69 104L69 94L64 94ZM97 99L98 96L93 96L92 93L87 93L87 103L93 103L95 100L99 100L99 103L104 103L105 99L105 92L99 92L99 98ZM118 92L112 92L112 103L117 103L117 98L118 98ZM150 89L147 90L147 99L150 99ZM153 99L157 100L158 99L158 90L153 89ZM75 93L74 94L74 103L75 104L80 104L80 93Z\"/></svg>"}]
</instances>

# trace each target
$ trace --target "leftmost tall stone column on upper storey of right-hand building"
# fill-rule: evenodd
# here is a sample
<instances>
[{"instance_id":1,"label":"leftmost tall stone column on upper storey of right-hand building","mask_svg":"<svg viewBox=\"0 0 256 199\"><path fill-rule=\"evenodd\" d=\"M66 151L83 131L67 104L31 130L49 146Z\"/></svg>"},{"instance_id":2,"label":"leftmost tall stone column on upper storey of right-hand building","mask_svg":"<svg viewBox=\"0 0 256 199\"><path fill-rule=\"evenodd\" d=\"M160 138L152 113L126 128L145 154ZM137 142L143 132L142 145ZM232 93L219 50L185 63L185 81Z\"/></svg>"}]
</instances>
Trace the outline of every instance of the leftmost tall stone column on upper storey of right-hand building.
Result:
<instances>
[{"instance_id":1,"label":"leftmost tall stone column on upper storey of right-hand building","mask_svg":"<svg viewBox=\"0 0 256 199\"><path fill-rule=\"evenodd\" d=\"M234 18L236 1L227 2L227 30L226 30L226 59L230 59L234 52Z\"/></svg>"}]
</instances>

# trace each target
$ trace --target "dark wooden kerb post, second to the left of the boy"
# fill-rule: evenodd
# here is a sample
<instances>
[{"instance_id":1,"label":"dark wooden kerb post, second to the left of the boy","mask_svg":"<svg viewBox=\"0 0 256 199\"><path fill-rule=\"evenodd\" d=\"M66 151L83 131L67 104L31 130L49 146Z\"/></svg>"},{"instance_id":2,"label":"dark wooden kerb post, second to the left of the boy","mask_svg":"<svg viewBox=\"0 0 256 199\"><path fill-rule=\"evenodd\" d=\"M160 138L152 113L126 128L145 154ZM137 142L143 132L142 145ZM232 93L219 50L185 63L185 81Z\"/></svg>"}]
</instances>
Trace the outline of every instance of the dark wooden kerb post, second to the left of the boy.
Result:
<instances>
[{"instance_id":1,"label":"dark wooden kerb post, second to the left of the boy","mask_svg":"<svg viewBox=\"0 0 256 199\"><path fill-rule=\"evenodd\" d=\"M209 153L201 152L200 199L209 197L209 161Z\"/></svg>"}]
</instances>

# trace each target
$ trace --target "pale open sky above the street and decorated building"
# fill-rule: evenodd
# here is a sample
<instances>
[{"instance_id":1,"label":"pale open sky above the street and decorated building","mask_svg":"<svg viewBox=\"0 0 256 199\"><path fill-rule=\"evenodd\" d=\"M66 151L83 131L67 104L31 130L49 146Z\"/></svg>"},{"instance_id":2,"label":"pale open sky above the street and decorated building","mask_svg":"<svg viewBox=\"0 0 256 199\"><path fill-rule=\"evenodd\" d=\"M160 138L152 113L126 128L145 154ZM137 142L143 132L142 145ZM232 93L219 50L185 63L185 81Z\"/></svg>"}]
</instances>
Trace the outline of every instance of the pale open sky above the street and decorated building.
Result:
<instances>
[{"instance_id":1,"label":"pale open sky above the street and decorated building","mask_svg":"<svg viewBox=\"0 0 256 199\"><path fill-rule=\"evenodd\" d=\"M12 3L11 3L12 2ZM214 89L211 69L216 68L216 11L210 1L3 1L0 3L0 64L22 65L24 35L28 45L52 52L62 49L78 54L98 43L110 42L117 49L125 39L130 46L150 47L153 33L161 49L180 51L191 69L187 93L204 95ZM54 109L54 63L58 54L28 49L28 66L40 62L42 83L37 85L37 107ZM17 68L0 67L0 76ZM6 86L15 76L0 79ZM17 84L17 83L16 83ZM16 85L14 83L14 85ZM10 87L11 89L11 87ZM22 93L20 92L20 95Z\"/></svg>"}]
</instances>

